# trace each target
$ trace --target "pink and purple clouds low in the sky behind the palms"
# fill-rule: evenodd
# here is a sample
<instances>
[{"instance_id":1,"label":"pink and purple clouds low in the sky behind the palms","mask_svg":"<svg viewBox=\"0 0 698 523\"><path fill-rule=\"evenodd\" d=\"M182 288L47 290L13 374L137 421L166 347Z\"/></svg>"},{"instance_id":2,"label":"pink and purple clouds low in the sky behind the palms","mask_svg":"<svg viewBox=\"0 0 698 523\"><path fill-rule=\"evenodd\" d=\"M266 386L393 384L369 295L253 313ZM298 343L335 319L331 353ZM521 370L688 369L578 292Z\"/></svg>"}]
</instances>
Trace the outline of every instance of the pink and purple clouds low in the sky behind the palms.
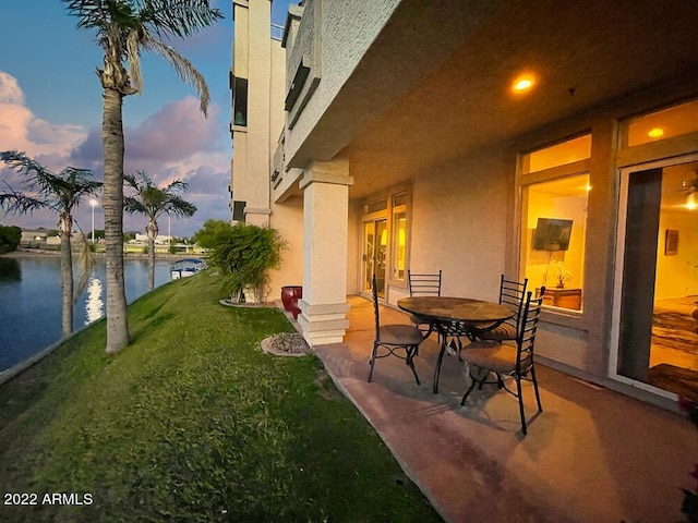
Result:
<instances>
[{"instance_id":1,"label":"pink and purple clouds low in the sky behind the palms","mask_svg":"<svg viewBox=\"0 0 698 523\"><path fill-rule=\"evenodd\" d=\"M198 110L198 100L189 96L165 104L136 127L124 129L124 171L146 171L160 186L179 179L189 183L184 199L197 207L192 218L172 218L172 234L191 236L209 218L228 219L230 144L227 122L218 121L220 107L213 104L208 118ZM56 124L37 118L26 107L17 81L0 71L0 150L25 150L29 157L51 170L73 166L91 169L101 179L101 129L84 130L74 124ZM21 190L20 179L0 166L0 180ZM1 190L0 190L1 191ZM83 202L75 221L83 230L91 224L92 209ZM20 227L56 227L56 217L44 212L33 216L2 216L3 223ZM168 220L160 220L166 233ZM104 228L101 205L95 208L95 227ZM124 215L124 230L143 231L141 216Z\"/></svg>"}]
</instances>

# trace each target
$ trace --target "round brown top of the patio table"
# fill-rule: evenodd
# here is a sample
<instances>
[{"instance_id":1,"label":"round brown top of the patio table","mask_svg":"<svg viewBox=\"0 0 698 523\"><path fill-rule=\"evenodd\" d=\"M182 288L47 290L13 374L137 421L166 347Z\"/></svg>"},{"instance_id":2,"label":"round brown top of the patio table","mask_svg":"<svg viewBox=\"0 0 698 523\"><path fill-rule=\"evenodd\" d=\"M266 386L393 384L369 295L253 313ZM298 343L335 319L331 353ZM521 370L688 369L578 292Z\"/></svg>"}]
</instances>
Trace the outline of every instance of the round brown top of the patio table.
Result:
<instances>
[{"instance_id":1,"label":"round brown top of the patio table","mask_svg":"<svg viewBox=\"0 0 698 523\"><path fill-rule=\"evenodd\" d=\"M397 302L402 311L441 321L504 321L516 312L507 305L469 297L414 296Z\"/></svg>"}]
</instances>

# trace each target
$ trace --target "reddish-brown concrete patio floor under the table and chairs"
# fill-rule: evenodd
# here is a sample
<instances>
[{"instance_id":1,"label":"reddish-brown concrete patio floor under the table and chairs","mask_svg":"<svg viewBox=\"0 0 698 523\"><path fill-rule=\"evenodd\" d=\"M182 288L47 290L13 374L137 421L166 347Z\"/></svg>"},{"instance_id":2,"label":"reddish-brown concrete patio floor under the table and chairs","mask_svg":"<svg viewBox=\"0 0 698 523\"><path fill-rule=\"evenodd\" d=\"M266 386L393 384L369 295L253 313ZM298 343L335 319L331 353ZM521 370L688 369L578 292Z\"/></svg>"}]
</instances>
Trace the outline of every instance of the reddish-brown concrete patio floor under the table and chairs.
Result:
<instances>
[{"instance_id":1,"label":"reddish-brown concrete patio floor under the table and chairs","mask_svg":"<svg viewBox=\"0 0 698 523\"><path fill-rule=\"evenodd\" d=\"M316 353L337 387L375 427L406 473L449 522L683 521L682 488L694 489L698 430L681 414L538 364L544 412L520 433L516 399L494 386L465 391L456 357L444 358L432 393L435 340L416 358L376 362L366 382L374 327L371 302L351 296L345 343ZM383 307L382 323L407 316Z\"/></svg>"}]
</instances>

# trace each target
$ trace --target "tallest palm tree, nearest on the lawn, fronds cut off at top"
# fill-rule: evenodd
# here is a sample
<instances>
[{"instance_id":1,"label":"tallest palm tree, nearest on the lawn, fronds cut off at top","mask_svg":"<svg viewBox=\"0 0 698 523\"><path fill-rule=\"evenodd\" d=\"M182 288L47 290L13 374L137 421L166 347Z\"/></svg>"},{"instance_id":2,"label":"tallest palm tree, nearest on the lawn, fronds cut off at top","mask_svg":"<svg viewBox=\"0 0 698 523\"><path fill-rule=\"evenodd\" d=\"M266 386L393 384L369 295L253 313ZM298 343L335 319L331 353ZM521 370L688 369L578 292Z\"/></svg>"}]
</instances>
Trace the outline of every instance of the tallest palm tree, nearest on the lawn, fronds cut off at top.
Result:
<instances>
[{"instance_id":1,"label":"tallest palm tree, nearest on the lawn, fronds cut off at top","mask_svg":"<svg viewBox=\"0 0 698 523\"><path fill-rule=\"evenodd\" d=\"M101 144L104 156L104 215L107 254L107 352L129 344L123 287L123 97L142 89L140 54L160 54L180 78L194 86L206 115L210 95L192 63L163 41L184 38L212 25L222 15L209 0L62 0L77 27L95 29L104 50L97 70L103 88ZM128 62L128 71L127 71Z\"/></svg>"}]
</instances>

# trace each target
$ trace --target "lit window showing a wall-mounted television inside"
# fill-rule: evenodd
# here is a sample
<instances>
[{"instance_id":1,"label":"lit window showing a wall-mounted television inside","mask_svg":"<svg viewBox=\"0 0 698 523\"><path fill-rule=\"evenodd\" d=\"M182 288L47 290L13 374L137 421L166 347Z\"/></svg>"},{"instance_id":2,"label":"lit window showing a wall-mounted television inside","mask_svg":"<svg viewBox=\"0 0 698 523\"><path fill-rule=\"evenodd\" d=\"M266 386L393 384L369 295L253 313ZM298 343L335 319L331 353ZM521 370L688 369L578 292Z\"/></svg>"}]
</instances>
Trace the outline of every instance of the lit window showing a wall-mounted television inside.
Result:
<instances>
[{"instance_id":1,"label":"lit window showing a wall-mounted television inside","mask_svg":"<svg viewBox=\"0 0 698 523\"><path fill-rule=\"evenodd\" d=\"M531 156L538 156L535 162L528 165L535 165L540 170L520 177L522 273L532 291L538 293L545 285L545 305L570 311L581 311L583 305L591 149L585 145L589 151L585 158L579 144L588 141L590 145L591 136L582 138L527 155L525 163ZM573 155L571 149L576 150ZM557 160L556 154L559 154ZM544 161L538 161L541 158Z\"/></svg>"}]
</instances>

